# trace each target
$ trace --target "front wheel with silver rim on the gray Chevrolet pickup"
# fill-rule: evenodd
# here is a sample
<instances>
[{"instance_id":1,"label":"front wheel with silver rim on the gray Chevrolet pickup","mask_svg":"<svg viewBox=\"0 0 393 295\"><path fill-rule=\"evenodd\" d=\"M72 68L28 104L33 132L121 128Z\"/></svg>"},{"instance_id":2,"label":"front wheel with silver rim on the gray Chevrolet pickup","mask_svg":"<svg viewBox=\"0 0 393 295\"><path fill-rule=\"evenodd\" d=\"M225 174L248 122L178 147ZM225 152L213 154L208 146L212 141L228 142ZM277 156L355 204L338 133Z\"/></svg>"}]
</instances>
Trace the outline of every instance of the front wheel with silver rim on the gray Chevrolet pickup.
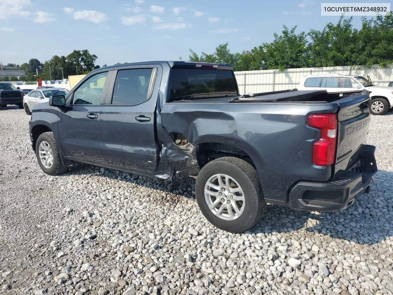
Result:
<instances>
[{"instance_id":1,"label":"front wheel with silver rim on the gray Chevrolet pickup","mask_svg":"<svg viewBox=\"0 0 393 295\"><path fill-rule=\"evenodd\" d=\"M67 170L67 167L61 162L53 132L44 132L38 136L35 155L42 171L48 175L59 175Z\"/></svg>"}]
</instances>

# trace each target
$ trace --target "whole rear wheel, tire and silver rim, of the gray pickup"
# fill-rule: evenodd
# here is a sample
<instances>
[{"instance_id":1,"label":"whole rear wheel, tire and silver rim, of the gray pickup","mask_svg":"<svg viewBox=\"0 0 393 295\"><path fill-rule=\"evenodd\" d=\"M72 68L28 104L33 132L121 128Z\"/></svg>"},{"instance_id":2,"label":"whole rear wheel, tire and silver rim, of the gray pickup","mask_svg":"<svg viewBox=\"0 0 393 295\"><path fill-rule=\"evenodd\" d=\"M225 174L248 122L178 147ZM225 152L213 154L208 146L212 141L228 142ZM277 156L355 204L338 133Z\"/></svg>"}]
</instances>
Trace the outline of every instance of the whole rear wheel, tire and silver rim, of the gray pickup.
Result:
<instances>
[{"instance_id":1,"label":"whole rear wheel, tire and silver rim, of the gray pickup","mask_svg":"<svg viewBox=\"0 0 393 295\"><path fill-rule=\"evenodd\" d=\"M206 219L228 232L252 228L262 218L266 204L257 171L235 157L206 164L196 178L195 193Z\"/></svg>"}]
</instances>

